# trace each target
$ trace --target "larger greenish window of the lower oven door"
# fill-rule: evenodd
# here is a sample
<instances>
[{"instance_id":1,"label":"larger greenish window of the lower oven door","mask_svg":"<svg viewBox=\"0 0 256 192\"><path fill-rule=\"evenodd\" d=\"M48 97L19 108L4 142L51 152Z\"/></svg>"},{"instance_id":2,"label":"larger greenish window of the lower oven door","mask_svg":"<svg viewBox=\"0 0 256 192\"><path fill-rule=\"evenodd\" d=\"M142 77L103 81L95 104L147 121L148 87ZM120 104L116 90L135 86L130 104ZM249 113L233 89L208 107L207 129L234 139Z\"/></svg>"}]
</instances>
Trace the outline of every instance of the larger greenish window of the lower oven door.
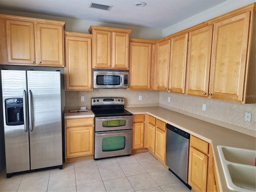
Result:
<instances>
[{"instance_id":1,"label":"larger greenish window of the lower oven door","mask_svg":"<svg viewBox=\"0 0 256 192\"><path fill-rule=\"evenodd\" d=\"M102 139L102 151L117 151L125 148L125 136L106 137Z\"/></svg>"}]
</instances>

